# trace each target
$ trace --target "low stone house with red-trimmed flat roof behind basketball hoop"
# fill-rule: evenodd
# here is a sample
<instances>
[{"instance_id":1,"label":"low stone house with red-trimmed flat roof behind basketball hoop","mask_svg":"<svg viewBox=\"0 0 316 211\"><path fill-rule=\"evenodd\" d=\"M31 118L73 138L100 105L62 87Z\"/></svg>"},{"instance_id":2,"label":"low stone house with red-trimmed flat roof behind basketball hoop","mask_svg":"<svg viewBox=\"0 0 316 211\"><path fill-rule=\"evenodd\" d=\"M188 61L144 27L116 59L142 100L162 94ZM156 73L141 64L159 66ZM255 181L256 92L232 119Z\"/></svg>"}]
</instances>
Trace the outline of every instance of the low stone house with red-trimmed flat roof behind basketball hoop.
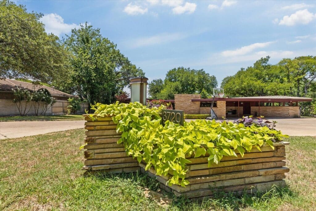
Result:
<instances>
[{"instance_id":1,"label":"low stone house with red-trimmed flat roof behind basketball hoop","mask_svg":"<svg viewBox=\"0 0 316 211\"><path fill-rule=\"evenodd\" d=\"M199 94L175 94L174 109L185 114L210 114L213 99L201 99ZM307 97L254 96L254 97L216 97L213 110L217 117L241 117L243 115L265 117L299 117L299 102L312 101Z\"/></svg>"}]
</instances>

